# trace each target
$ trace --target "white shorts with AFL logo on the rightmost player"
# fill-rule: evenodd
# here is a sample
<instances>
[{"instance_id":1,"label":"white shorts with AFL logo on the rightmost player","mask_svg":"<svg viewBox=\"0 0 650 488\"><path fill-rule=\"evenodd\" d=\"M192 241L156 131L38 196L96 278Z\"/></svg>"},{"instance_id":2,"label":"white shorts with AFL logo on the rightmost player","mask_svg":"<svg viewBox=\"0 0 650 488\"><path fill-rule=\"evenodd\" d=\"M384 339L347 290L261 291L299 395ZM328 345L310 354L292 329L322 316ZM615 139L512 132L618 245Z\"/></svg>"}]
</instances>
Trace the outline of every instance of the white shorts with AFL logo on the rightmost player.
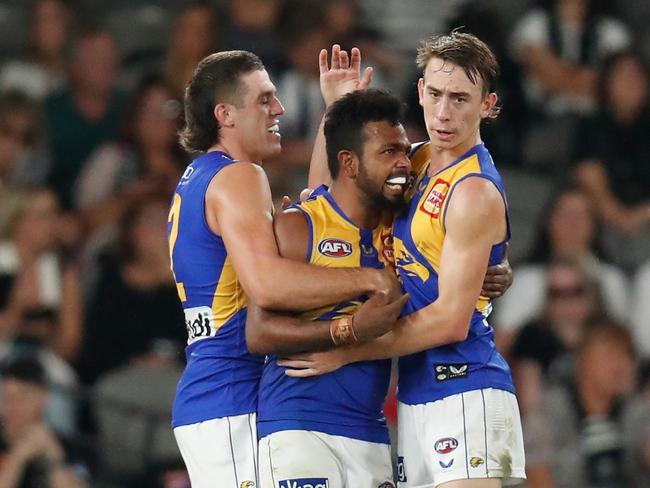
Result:
<instances>
[{"instance_id":1,"label":"white shorts with AFL logo on the rightmost player","mask_svg":"<svg viewBox=\"0 0 650 488\"><path fill-rule=\"evenodd\" d=\"M399 403L400 488L470 478L526 478L516 397L487 388L421 405Z\"/></svg>"}]
</instances>

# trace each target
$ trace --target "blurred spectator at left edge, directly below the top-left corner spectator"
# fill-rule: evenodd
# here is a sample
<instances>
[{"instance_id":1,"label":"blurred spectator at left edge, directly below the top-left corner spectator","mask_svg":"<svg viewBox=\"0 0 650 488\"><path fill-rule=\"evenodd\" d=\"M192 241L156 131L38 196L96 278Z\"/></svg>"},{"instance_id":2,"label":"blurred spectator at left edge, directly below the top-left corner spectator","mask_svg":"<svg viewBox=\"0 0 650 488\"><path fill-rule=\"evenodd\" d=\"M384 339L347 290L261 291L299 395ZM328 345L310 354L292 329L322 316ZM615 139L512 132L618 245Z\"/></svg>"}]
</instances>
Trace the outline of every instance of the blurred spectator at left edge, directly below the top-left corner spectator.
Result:
<instances>
[{"instance_id":1,"label":"blurred spectator at left edge, directly below the top-left corner spectator","mask_svg":"<svg viewBox=\"0 0 650 488\"><path fill-rule=\"evenodd\" d=\"M12 187L43 184L49 164L39 104L16 91L1 94L0 195Z\"/></svg>"}]
</instances>

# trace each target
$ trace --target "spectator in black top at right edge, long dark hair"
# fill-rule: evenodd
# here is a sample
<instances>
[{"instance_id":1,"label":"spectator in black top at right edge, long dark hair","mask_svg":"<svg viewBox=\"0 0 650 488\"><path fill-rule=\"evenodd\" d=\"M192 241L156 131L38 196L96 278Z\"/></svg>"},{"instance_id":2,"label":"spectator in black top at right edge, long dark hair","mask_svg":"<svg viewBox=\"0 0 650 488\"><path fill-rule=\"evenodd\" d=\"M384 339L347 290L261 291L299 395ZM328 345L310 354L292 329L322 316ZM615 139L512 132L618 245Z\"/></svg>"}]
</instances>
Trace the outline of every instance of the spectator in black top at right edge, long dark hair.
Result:
<instances>
[{"instance_id":1,"label":"spectator in black top at right edge, long dark hair","mask_svg":"<svg viewBox=\"0 0 650 488\"><path fill-rule=\"evenodd\" d=\"M592 199L617 261L650 259L650 72L631 52L608 60L600 110L578 126L576 179ZM618 235L617 235L618 234Z\"/></svg>"}]
</instances>

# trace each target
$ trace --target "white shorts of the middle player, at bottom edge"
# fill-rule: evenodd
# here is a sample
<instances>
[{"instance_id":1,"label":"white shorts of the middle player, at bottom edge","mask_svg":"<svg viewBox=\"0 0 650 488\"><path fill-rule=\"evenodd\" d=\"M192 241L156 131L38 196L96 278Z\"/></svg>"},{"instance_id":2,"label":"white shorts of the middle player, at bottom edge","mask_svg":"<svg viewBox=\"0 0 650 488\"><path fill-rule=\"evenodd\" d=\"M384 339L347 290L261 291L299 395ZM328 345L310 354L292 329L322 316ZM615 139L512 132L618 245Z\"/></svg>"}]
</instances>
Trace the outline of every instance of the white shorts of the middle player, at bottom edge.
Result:
<instances>
[{"instance_id":1,"label":"white shorts of the middle player, at bottom edge","mask_svg":"<svg viewBox=\"0 0 650 488\"><path fill-rule=\"evenodd\" d=\"M307 430L260 440L260 488L393 488L390 446Z\"/></svg>"}]
</instances>

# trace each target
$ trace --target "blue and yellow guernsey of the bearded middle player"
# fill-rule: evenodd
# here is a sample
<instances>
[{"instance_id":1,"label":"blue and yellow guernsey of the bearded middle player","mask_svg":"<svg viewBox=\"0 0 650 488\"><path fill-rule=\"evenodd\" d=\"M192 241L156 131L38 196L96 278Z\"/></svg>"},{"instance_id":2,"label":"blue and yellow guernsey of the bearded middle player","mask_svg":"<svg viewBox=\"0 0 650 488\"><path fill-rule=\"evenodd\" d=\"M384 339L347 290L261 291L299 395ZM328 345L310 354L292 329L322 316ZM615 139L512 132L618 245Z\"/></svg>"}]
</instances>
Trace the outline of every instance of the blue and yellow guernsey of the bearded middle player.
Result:
<instances>
[{"instance_id":1,"label":"blue and yellow guernsey of the bearded middle player","mask_svg":"<svg viewBox=\"0 0 650 488\"><path fill-rule=\"evenodd\" d=\"M307 262L318 266L383 268L392 262L390 228L359 229L320 187L295 205L310 228ZM365 297L305 313L310 320L349 316ZM382 405L390 380L390 360L345 366L323 376L296 379L284 374L276 357L264 365L257 411L258 435L313 430L370 442L388 443Z\"/></svg>"}]
</instances>

